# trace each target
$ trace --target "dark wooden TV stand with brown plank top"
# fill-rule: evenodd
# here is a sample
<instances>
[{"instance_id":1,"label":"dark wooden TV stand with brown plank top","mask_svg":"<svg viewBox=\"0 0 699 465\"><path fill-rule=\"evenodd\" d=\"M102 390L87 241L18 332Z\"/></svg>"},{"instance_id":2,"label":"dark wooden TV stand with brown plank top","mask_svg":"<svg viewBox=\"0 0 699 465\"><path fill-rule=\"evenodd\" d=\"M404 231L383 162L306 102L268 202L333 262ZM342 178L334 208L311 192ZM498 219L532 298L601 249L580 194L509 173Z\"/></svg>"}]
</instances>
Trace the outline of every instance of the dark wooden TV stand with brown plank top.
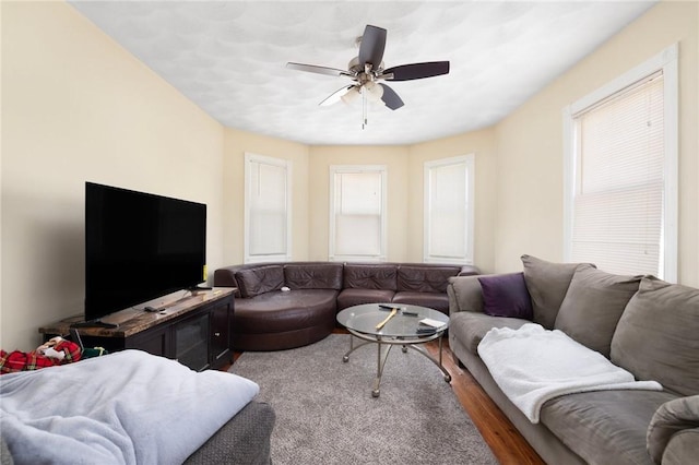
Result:
<instances>
[{"instance_id":1,"label":"dark wooden TV stand with brown plank top","mask_svg":"<svg viewBox=\"0 0 699 465\"><path fill-rule=\"evenodd\" d=\"M158 312L130 308L105 321L72 317L39 327L45 338L68 336L76 331L85 347L108 351L140 349L178 360L201 371L233 361L233 314L236 289L216 287L161 306ZM114 327L116 325L117 327Z\"/></svg>"}]
</instances>

